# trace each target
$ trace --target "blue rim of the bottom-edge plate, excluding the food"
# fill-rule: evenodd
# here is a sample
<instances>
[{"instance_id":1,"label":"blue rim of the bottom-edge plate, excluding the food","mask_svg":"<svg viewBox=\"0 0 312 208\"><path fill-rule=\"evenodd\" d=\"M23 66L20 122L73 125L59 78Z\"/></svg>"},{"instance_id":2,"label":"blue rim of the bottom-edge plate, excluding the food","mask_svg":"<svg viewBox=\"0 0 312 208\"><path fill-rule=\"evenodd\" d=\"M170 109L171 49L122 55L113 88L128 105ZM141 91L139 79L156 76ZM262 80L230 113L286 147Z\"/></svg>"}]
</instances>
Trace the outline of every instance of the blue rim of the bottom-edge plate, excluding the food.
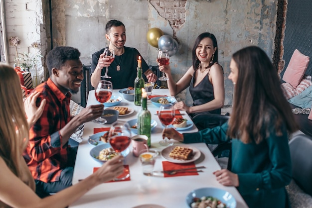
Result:
<instances>
[{"instance_id":1,"label":"blue rim of the bottom-edge plate, excluding the food","mask_svg":"<svg viewBox=\"0 0 312 208\"><path fill-rule=\"evenodd\" d=\"M195 189L191 191L186 196L186 204L189 207L191 207L191 204L193 203L193 199L194 198L200 199L201 197L217 198L219 201L224 203L227 208L236 208L236 200L232 196L232 194L230 194L229 192L223 189L218 189L218 188L213 188L213 187Z\"/></svg>"}]
</instances>

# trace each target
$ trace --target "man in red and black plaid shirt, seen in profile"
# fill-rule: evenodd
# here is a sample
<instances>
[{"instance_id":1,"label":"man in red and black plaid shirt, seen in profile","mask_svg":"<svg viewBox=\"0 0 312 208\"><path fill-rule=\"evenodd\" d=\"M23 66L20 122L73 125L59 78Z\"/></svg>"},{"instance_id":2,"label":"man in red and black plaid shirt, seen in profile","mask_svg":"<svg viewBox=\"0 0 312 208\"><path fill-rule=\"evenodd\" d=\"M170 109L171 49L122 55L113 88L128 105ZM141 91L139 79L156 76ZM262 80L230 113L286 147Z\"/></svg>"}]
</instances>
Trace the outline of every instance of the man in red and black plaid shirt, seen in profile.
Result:
<instances>
[{"instance_id":1,"label":"man in red and black plaid shirt, seen in profile","mask_svg":"<svg viewBox=\"0 0 312 208\"><path fill-rule=\"evenodd\" d=\"M68 140L82 123L103 112L103 105L91 105L71 117L71 93L77 93L83 80L80 52L72 47L56 47L47 55L50 78L34 89L40 92L37 106L46 99L44 111L29 130L29 144L23 154L36 182L40 197L71 186L76 151Z\"/></svg>"}]
</instances>

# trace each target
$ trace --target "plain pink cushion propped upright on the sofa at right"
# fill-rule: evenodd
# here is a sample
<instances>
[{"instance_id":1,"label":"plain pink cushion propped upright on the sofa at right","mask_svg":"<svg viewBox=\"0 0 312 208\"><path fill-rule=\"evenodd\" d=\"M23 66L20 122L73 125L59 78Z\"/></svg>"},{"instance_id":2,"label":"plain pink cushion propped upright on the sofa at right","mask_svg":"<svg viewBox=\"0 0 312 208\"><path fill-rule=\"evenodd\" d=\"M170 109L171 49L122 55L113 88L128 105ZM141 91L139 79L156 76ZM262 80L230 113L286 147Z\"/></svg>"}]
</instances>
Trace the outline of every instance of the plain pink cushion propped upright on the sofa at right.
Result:
<instances>
[{"instance_id":1,"label":"plain pink cushion propped upright on the sofa at right","mask_svg":"<svg viewBox=\"0 0 312 208\"><path fill-rule=\"evenodd\" d=\"M309 61L309 56L305 56L296 49L286 68L283 80L291 84L293 88L296 89L306 73Z\"/></svg>"}]
</instances>

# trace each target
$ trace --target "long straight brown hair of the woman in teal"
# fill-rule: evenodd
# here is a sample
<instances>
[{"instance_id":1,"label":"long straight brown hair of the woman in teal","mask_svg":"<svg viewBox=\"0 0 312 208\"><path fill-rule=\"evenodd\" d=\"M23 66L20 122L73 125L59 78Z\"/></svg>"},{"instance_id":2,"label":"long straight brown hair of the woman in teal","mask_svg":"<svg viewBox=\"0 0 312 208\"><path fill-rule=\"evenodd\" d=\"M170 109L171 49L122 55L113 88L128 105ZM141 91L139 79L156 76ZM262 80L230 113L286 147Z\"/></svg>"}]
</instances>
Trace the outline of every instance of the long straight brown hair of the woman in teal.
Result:
<instances>
[{"instance_id":1,"label":"long straight brown hair of the woman in teal","mask_svg":"<svg viewBox=\"0 0 312 208\"><path fill-rule=\"evenodd\" d=\"M296 131L298 125L267 54L257 46L249 46L235 52L232 60L238 68L238 79L228 135L244 143L259 143L269 135L272 120L277 134L282 133L283 124L290 133Z\"/></svg>"}]
</instances>

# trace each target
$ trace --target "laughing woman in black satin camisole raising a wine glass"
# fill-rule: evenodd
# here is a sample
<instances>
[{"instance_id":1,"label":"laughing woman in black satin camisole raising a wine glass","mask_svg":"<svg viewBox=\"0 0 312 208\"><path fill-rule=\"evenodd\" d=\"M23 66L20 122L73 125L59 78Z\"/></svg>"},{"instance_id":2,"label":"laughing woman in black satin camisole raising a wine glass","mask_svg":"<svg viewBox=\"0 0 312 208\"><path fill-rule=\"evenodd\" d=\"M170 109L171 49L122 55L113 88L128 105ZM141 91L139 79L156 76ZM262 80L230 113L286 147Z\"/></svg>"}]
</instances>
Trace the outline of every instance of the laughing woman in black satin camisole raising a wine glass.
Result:
<instances>
[{"instance_id":1,"label":"laughing woman in black satin camisole raising a wine glass","mask_svg":"<svg viewBox=\"0 0 312 208\"><path fill-rule=\"evenodd\" d=\"M184 102L174 105L175 109L185 110L191 116L198 113L221 113L224 104L223 69L218 64L218 44L216 37L209 32L201 33L195 40L192 50L192 66L175 83L170 65L159 65L159 70L169 78L168 89L175 96L189 87L193 105Z\"/></svg>"}]
</instances>

